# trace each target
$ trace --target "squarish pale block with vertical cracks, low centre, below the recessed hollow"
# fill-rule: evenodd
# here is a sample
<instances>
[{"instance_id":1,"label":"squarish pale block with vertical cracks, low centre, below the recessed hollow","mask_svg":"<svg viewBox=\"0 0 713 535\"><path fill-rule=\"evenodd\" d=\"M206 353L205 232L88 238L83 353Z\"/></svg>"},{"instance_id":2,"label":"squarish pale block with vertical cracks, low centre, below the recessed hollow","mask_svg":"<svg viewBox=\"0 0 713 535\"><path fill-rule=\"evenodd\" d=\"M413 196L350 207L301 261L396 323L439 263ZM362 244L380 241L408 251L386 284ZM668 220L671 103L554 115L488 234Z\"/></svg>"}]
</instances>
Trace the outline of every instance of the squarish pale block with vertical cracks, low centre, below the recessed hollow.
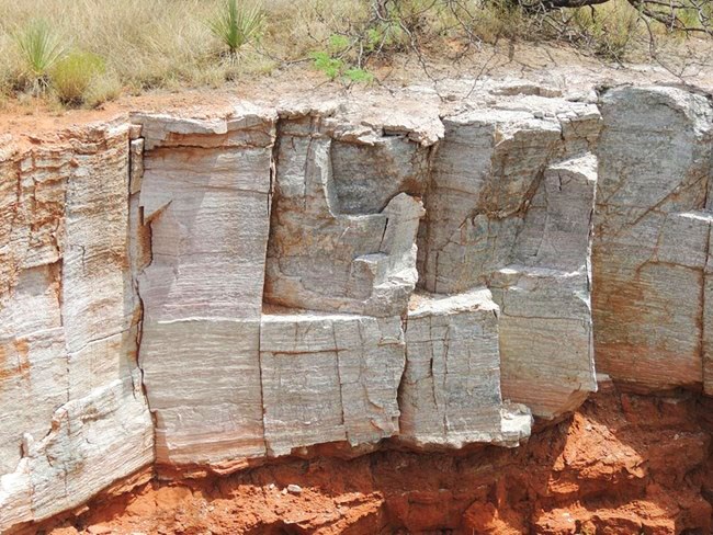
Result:
<instances>
[{"instance_id":1,"label":"squarish pale block with vertical cracks, low centre, below the recessed hollow","mask_svg":"<svg viewBox=\"0 0 713 535\"><path fill-rule=\"evenodd\" d=\"M270 455L325 442L355 446L398 433L398 317L267 314L260 362Z\"/></svg>"}]
</instances>

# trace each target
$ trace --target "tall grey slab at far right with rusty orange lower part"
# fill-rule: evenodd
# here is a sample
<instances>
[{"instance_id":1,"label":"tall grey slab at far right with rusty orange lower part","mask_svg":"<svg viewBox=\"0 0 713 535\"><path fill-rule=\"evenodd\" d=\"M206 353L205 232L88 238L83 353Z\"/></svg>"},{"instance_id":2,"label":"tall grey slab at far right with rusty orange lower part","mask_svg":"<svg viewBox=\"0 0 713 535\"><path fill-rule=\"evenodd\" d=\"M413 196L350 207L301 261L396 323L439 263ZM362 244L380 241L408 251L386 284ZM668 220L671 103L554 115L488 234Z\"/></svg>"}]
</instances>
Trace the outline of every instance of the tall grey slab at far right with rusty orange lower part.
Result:
<instances>
[{"instance_id":1,"label":"tall grey slab at far right with rusty orange lower part","mask_svg":"<svg viewBox=\"0 0 713 535\"><path fill-rule=\"evenodd\" d=\"M601 100L593 309L599 368L640 389L700 384L713 107L679 88Z\"/></svg>"}]
</instances>

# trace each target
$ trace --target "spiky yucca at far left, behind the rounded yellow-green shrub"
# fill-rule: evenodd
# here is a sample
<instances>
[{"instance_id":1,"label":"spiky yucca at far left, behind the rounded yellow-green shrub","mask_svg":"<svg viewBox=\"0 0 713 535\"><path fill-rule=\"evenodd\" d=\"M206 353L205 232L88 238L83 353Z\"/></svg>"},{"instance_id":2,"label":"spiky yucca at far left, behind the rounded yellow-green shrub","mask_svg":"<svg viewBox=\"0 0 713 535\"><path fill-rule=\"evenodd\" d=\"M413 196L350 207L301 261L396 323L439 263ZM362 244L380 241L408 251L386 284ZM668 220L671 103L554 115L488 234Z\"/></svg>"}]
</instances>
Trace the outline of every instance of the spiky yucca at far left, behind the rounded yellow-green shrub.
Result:
<instances>
[{"instance_id":1,"label":"spiky yucca at far left, behind the rounded yellow-green shrub","mask_svg":"<svg viewBox=\"0 0 713 535\"><path fill-rule=\"evenodd\" d=\"M43 92L49 83L49 70L65 55L65 45L43 20L31 21L14 34L14 39L20 50L23 75L30 78L33 92Z\"/></svg>"}]
</instances>

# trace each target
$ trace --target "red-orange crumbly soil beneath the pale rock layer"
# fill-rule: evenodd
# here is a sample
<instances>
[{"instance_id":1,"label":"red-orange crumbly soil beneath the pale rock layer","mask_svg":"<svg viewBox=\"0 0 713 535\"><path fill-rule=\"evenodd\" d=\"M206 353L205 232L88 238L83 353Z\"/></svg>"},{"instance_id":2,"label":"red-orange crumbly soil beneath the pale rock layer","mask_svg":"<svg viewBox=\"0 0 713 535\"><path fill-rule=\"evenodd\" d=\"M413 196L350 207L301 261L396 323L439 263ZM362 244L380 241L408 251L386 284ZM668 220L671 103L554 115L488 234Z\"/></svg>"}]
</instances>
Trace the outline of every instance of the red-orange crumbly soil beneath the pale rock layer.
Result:
<instances>
[{"instance_id":1,"label":"red-orange crumbly soil beneath the pale rock layer","mask_svg":"<svg viewBox=\"0 0 713 535\"><path fill-rule=\"evenodd\" d=\"M711 398L609 386L516 449L385 446L351 460L154 480L95 500L48 533L710 534L712 436Z\"/></svg>"}]
</instances>

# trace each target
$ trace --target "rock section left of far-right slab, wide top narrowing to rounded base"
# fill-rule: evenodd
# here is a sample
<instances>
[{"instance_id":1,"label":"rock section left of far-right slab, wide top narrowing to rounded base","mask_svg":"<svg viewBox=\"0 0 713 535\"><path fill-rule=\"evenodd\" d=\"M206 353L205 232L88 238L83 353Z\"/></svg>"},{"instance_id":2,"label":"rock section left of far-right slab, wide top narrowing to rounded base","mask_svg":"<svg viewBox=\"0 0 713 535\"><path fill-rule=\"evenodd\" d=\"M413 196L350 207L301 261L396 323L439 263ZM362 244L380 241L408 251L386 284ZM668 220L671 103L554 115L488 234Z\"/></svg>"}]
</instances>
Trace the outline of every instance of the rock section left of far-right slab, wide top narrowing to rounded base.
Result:
<instances>
[{"instance_id":1,"label":"rock section left of far-right slab, wide top narrowing to rounded base","mask_svg":"<svg viewBox=\"0 0 713 535\"><path fill-rule=\"evenodd\" d=\"M600 116L559 99L518 102L528 106L444 118L420 281L448 294L491 288L503 395L551 418L597 387L588 261Z\"/></svg>"}]
</instances>

